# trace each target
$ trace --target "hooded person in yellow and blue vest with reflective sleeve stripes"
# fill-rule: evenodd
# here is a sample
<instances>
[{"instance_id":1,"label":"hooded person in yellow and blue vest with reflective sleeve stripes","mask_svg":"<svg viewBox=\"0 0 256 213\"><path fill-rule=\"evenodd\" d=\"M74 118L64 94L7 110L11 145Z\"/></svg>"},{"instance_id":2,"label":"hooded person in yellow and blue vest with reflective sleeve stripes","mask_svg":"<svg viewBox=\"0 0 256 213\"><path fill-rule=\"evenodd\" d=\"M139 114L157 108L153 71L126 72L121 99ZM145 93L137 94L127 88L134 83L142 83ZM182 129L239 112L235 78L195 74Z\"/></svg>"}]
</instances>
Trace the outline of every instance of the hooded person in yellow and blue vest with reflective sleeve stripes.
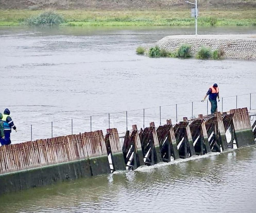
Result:
<instances>
[{"instance_id":1,"label":"hooded person in yellow and blue vest with reflective sleeve stripes","mask_svg":"<svg viewBox=\"0 0 256 213\"><path fill-rule=\"evenodd\" d=\"M5 137L5 145L11 144L11 132L14 129L17 132L17 129L13 123L13 120L10 116L10 110L5 109L4 115L2 118L4 122L4 137Z\"/></svg>"}]
</instances>

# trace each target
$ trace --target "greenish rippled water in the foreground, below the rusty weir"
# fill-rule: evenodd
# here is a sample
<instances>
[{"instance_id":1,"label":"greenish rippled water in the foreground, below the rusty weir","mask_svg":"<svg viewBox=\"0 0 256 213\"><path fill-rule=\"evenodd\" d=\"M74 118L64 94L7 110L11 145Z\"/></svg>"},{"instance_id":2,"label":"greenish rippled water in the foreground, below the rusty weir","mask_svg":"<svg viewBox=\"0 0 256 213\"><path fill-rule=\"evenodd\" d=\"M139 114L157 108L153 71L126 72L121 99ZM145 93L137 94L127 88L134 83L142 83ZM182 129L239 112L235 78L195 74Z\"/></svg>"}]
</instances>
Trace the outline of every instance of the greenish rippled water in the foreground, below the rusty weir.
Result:
<instances>
[{"instance_id":1,"label":"greenish rippled water in the foreground, below the rusty weir","mask_svg":"<svg viewBox=\"0 0 256 213\"><path fill-rule=\"evenodd\" d=\"M195 207L197 199L201 202L197 207L200 210L233 209L226 206L226 199L233 206L247 202L250 205L245 210L250 210L254 198L245 194L256 195L256 184L252 183L256 175L255 160L256 147L251 146L139 171L9 193L0 197L0 212L132 212L135 207L138 210L135 212L143 212L145 208L154 212L164 208L188 212L184 202ZM213 201L218 202L217 207ZM197 212L194 210L190 212Z\"/></svg>"}]
</instances>

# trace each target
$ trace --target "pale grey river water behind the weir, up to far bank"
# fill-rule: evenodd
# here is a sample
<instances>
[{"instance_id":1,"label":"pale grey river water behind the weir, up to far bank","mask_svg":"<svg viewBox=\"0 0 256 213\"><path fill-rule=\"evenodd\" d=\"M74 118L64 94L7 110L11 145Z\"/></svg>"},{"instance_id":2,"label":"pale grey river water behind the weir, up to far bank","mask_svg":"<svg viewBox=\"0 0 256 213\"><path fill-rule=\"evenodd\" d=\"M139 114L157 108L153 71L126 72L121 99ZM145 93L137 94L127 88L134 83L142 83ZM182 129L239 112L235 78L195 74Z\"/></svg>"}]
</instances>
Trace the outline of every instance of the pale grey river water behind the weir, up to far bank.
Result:
<instances>
[{"instance_id":1,"label":"pale grey river water behind the weir, up to far bank","mask_svg":"<svg viewBox=\"0 0 256 213\"><path fill-rule=\"evenodd\" d=\"M135 54L139 45L193 32L191 27L0 28L0 110L9 108L17 126L13 143L31 139L30 125L33 140L51 137L52 129L53 137L71 134L71 119L75 134L90 131L90 126L106 132L109 124L121 133L126 130L125 111L127 128L140 128L143 108L150 108L144 111L144 125L158 125L159 106L161 123L175 123L176 103L189 102L177 105L178 120L192 116L192 101L193 116L206 114L207 102L200 100L213 83L218 83L221 97L255 92L256 61L152 59ZM250 34L256 28L208 27L199 32ZM249 108L250 95L238 96L237 107ZM256 108L256 94L251 95L251 107ZM218 108L236 108L236 97L224 98ZM121 113L108 117L113 112Z\"/></svg>"}]
</instances>

